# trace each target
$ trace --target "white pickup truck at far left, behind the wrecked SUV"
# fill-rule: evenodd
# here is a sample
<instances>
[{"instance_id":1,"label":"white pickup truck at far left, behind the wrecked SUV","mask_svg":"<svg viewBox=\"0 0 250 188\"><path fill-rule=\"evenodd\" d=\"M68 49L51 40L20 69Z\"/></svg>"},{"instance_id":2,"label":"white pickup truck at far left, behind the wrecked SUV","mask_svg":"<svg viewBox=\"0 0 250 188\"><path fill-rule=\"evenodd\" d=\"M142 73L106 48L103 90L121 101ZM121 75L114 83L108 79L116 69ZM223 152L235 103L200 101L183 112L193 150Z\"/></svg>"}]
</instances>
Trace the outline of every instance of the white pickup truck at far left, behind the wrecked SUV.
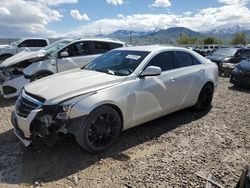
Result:
<instances>
[{"instance_id":1,"label":"white pickup truck at far left, behind the wrecked SUV","mask_svg":"<svg viewBox=\"0 0 250 188\"><path fill-rule=\"evenodd\" d=\"M49 45L49 40L44 38L25 38L12 42L10 45L0 45L0 63L24 50L36 51L47 45Z\"/></svg>"}]
</instances>

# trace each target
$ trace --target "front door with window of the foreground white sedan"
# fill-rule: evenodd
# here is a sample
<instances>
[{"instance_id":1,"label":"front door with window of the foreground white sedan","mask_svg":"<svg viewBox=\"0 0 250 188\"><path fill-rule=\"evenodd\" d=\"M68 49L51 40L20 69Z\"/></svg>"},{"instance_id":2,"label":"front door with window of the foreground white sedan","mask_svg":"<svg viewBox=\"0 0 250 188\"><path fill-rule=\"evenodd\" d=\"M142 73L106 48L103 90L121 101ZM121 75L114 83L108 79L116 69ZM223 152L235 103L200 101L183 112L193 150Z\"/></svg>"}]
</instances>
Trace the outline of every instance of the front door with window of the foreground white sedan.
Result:
<instances>
[{"instance_id":1,"label":"front door with window of the foreground white sedan","mask_svg":"<svg viewBox=\"0 0 250 188\"><path fill-rule=\"evenodd\" d=\"M178 86L172 81L174 75L173 52L157 54L147 64L162 70L159 76L136 79L133 124L144 123L172 112L176 106Z\"/></svg>"}]
</instances>

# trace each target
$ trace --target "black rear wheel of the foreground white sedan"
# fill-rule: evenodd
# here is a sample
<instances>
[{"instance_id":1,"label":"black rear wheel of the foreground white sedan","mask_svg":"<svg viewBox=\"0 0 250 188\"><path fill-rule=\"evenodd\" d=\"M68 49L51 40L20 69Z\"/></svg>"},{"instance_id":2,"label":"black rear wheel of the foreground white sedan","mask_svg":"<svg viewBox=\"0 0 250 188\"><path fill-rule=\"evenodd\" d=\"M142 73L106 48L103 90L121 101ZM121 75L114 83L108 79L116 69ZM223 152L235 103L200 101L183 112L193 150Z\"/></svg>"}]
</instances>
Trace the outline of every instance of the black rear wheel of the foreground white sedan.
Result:
<instances>
[{"instance_id":1,"label":"black rear wheel of the foreground white sedan","mask_svg":"<svg viewBox=\"0 0 250 188\"><path fill-rule=\"evenodd\" d=\"M207 83L201 89L198 100L194 106L196 110L206 111L211 108L213 100L214 86L211 83Z\"/></svg>"}]
</instances>

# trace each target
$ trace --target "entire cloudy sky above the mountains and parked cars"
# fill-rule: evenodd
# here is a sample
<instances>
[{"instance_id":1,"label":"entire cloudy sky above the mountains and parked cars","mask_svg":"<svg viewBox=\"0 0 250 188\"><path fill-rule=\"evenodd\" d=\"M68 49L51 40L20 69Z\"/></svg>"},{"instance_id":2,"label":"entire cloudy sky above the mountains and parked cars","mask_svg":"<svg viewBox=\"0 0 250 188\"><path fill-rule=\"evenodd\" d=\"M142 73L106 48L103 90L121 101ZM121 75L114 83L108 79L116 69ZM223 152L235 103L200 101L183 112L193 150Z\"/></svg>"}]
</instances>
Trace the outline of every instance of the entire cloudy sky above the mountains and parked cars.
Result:
<instances>
[{"instance_id":1,"label":"entire cloudy sky above the mountains and parked cars","mask_svg":"<svg viewBox=\"0 0 250 188\"><path fill-rule=\"evenodd\" d=\"M0 37L86 36L183 26L249 29L250 0L1 0Z\"/></svg>"}]
</instances>

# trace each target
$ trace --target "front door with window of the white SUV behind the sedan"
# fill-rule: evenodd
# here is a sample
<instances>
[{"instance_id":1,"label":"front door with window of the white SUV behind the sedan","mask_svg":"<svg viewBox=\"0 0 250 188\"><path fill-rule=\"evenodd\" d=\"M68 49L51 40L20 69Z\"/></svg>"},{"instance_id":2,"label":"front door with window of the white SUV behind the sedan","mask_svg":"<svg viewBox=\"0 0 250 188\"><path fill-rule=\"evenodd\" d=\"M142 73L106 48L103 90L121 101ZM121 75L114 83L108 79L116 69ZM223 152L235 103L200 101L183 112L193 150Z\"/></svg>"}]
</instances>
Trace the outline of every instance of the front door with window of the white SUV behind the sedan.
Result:
<instances>
[{"instance_id":1,"label":"front door with window of the white SUV behind the sedan","mask_svg":"<svg viewBox=\"0 0 250 188\"><path fill-rule=\"evenodd\" d=\"M65 52L66 56L63 56L62 54ZM59 52L57 59L58 72L83 67L94 58L96 58L96 55L92 53L90 42L75 42Z\"/></svg>"}]
</instances>

